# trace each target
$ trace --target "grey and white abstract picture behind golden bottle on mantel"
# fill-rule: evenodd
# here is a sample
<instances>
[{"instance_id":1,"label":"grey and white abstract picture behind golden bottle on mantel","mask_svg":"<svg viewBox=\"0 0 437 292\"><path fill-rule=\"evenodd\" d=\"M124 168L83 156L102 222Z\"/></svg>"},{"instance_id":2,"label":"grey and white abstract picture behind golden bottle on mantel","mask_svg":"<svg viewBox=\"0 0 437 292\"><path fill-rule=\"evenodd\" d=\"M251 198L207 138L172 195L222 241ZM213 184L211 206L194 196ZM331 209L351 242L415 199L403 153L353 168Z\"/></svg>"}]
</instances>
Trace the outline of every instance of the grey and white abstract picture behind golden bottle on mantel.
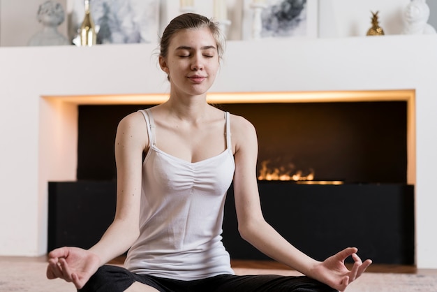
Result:
<instances>
[{"instance_id":1,"label":"grey and white abstract picture behind golden bottle on mantel","mask_svg":"<svg viewBox=\"0 0 437 292\"><path fill-rule=\"evenodd\" d=\"M89 3L98 44L158 43L160 0L91 0ZM84 1L76 0L68 24L73 43L83 18Z\"/></svg>"}]
</instances>

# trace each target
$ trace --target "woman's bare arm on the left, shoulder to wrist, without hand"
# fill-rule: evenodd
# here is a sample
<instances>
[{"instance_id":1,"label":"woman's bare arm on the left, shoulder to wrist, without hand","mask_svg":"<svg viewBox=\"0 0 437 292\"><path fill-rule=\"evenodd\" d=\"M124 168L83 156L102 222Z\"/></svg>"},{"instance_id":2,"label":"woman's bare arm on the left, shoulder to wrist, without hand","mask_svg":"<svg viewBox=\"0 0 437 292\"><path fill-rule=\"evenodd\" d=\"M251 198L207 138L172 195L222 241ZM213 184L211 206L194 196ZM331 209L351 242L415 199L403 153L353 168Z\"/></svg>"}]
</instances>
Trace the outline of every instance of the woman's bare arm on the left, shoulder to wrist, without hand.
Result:
<instances>
[{"instance_id":1,"label":"woman's bare arm on the left, shoulder to wrist, without hand","mask_svg":"<svg viewBox=\"0 0 437 292\"><path fill-rule=\"evenodd\" d=\"M101 264L123 254L139 235L142 152L148 147L145 119L135 112L121 120L115 138L117 209L102 239L89 249Z\"/></svg>"}]
</instances>

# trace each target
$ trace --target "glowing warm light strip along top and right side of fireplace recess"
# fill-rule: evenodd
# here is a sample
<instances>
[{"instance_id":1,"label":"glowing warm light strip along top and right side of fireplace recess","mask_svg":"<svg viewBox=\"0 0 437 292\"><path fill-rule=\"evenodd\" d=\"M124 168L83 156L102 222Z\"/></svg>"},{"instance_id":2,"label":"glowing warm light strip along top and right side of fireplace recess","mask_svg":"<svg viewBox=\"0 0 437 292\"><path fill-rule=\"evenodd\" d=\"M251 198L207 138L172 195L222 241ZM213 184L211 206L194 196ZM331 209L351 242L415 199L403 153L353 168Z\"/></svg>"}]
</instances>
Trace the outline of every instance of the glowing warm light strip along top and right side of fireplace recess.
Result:
<instances>
[{"instance_id":1,"label":"glowing warm light strip along top and right side of fireplace recess","mask_svg":"<svg viewBox=\"0 0 437 292\"><path fill-rule=\"evenodd\" d=\"M168 94L112 94L84 96L42 96L54 103L77 105L128 105L160 104L168 100ZM407 102L407 183L415 184L415 90L362 90L332 92L241 92L209 93L209 103L315 103L358 101L406 101Z\"/></svg>"}]
</instances>

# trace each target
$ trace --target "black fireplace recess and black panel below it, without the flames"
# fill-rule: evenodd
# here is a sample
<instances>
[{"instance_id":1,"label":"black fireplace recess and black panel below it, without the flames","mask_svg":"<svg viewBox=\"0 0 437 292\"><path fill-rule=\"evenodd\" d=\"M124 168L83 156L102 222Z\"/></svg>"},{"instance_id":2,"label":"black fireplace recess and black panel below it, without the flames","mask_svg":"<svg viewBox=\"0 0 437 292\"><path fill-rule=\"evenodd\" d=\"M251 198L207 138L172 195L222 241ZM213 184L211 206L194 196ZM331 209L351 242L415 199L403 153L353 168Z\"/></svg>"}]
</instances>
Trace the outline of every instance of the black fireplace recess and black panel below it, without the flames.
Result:
<instances>
[{"instance_id":1,"label":"black fireplace recess and black panel below it, without the flames","mask_svg":"<svg viewBox=\"0 0 437 292\"><path fill-rule=\"evenodd\" d=\"M63 245L91 247L110 224L117 124L128 113L149 106L79 106L77 182L49 184L49 250ZM406 183L406 102L216 106L254 124L258 168L261 161L269 160L272 166L281 161L304 173L313 169L315 180L343 182L258 182L265 218L287 240L320 260L343 247L357 246L360 255L374 263L414 263L414 186ZM101 214L96 216L99 208ZM239 238L232 187L225 205L223 242L232 258L268 259Z\"/></svg>"}]
</instances>

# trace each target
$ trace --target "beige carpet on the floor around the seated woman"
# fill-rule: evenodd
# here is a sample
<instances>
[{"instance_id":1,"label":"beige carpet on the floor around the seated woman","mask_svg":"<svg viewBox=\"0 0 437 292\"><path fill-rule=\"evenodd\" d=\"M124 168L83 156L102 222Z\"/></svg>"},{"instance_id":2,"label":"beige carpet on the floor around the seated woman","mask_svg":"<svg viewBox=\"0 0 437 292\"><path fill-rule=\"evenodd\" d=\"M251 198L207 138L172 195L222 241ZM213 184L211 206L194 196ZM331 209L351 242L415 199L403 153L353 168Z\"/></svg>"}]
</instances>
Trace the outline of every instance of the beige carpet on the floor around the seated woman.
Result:
<instances>
[{"instance_id":1,"label":"beige carpet on the floor around the seated woman","mask_svg":"<svg viewBox=\"0 0 437 292\"><path fill-rule=\"evenodd\" d=\"M73 284L45 278L45 263L0 262L0 292L74 292ZM239 275L299 275L290 270L256 270L237 268ZM347 292L437 292L437 276L379 274L367 272L350 284Z\"/></svg>"}]
</instances>

